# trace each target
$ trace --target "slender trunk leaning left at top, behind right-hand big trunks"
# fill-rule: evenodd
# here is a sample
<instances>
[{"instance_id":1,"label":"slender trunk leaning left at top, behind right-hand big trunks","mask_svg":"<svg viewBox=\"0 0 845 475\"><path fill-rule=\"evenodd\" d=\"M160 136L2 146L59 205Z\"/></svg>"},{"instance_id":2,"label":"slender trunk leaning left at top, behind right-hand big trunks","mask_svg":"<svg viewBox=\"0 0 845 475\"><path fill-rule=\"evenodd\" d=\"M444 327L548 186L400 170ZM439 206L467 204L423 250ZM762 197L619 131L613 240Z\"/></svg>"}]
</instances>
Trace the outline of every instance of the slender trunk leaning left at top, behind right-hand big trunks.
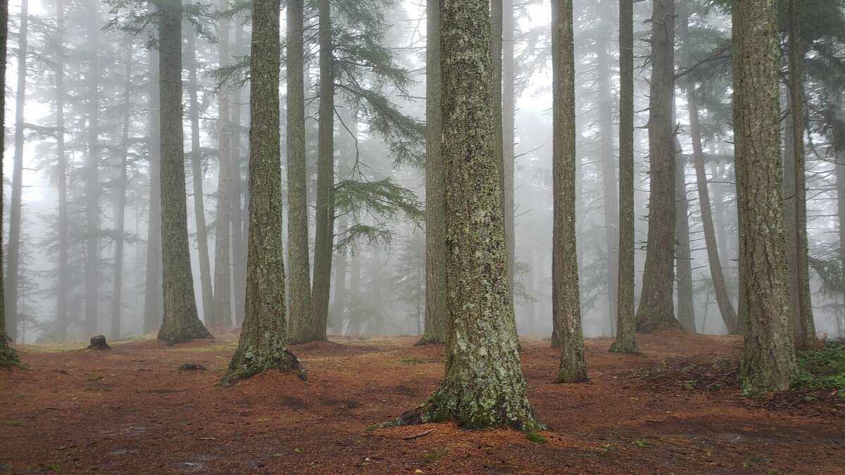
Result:
<instances>
[{"instance_id":1,"label":"slender trunk leaning left at top, behind right-hand big trunks","mask_svg":"<svg viewBox=\"0 0 845 475\"><path fill-rule=\"evenodd\" d=\"M684 62L687 67L695 63L692 44L690 42L690 0L684 0L679 15L679 35L684 48ZM725 276L722 274L722 262L719 258L719 248L716 240L716 230L713 227L713 216L711 214L710 192L707 189L707 173L704 164L704 152L701 150L701 125L699 123L698 94L695 91L695 82L687 79L684 84L687 96L687 109L690 113L690 139L692 140L693 165L695 167L695 185L698 188L698 204L701 210L701 227L704 231L704 241L707 250L707 264L710 267L710 275L713 281L713 289L716 293L716 302L719 312L728 332L733 333L737 327L737 315L733 310L733 304L728 297L728 288L725 285ZM688 329L687 329L688 330ZM689 330L688 330L689 331Z\"/></svg>"}]
</instances>

